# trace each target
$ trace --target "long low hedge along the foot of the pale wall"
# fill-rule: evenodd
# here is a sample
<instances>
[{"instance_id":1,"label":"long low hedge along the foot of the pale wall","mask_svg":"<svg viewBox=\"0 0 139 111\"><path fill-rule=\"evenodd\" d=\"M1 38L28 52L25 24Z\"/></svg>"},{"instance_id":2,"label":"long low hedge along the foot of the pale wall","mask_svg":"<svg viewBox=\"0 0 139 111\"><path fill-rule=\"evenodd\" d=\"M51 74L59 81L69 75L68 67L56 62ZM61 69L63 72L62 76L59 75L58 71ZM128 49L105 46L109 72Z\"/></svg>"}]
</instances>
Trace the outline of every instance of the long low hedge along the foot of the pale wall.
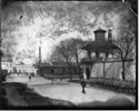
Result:
<instances>
[{"instance_id":1,"label":"long low hedge along the foot of the pale wall","mask_svg":"<svg viewBox=\"0 0 139 111\"><path fill-rule=\"evenodd\" d=\"M136 93L136 82L133 81L122 81L122 80L116 80L116 79L105 79L105 78L97 78L89 80L90 85L97 85L105 89L110 89L119 92Z\"/></svg>"}]
</instances>

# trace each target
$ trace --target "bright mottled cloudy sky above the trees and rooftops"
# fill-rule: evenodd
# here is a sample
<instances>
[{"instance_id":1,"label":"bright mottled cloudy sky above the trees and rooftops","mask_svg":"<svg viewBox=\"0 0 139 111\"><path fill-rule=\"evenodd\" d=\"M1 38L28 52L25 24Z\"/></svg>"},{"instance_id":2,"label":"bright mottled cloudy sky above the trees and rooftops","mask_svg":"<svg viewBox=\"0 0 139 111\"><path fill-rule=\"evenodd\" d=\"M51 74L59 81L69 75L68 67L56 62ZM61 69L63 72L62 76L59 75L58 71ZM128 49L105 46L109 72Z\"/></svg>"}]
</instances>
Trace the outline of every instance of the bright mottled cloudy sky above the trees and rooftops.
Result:
<instances>
[{"instance_id":1,"label":"bright mottled cloudy sky above the trees and rooftops","mask_svg":"<svg viewBox=\"0 0 139 111\"><path fill-rule=\"evenodd\" d=\"M77 38L78 36L85 40L88 38L93 40L93 30L98 27L106 30L113 28L113 34L117 37L118 31L116 28L119 26L119 16L122 11L119 14L118 9L122 9L122 7L115 3L90 1L14 2L2 10L1 34L3 39L9 38L10 41L10 38L12 38L18 43L18 46L14 46L14 58L23 49L31 50L31 48L36 48L34 57L38 58L38 43L41 37L42 59L47 59L61 40L71 37ZM108 11L108 9L110 10ZM73 27L83 27L90 31L90 34L83 36ZM62 33L58 34L57 32L60 31Z\"/></svg>"}]
</instances>

